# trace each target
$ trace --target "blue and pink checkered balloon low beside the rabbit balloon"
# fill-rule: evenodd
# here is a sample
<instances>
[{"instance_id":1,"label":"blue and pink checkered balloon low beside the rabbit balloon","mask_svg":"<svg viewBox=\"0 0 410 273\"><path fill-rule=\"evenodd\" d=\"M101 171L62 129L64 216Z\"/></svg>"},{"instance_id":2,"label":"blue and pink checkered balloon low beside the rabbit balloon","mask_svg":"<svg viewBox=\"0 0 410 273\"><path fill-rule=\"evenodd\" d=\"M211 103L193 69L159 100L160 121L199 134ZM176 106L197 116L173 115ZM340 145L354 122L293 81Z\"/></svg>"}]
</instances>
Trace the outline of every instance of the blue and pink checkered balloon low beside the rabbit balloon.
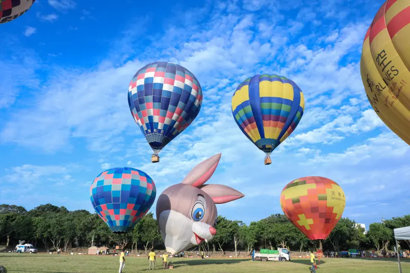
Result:
<instances>
[{"instance_id":1,"label":"blue and pink checkered balloon low beside the rabbit balloon","mask_svg":"<svg viewBox=\"0 0 410 273\"><path fill-rule=\"evenodd\" d=\"M155 196L151 177L130 167L102 172L90 187L95 212L118 234L131 230L147 214Z\"/></svg>"}]
</instances>

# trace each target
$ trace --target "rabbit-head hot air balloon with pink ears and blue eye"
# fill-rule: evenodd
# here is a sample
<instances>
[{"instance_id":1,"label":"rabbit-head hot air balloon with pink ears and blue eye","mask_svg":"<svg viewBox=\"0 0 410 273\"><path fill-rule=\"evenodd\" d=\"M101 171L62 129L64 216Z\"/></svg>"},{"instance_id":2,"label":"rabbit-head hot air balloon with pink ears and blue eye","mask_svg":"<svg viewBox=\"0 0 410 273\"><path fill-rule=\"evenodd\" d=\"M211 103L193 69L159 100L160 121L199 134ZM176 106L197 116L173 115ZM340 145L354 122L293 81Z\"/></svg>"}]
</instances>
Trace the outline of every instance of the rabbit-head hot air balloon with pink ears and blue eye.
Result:
<instances>
[{"instance_id":1,"label":"rabbit-head hot air balloon with pink ears and blue eye","mask_svg":"<svg viewBox=\"0 0 410 273\"><path fill-rule=\"evenodd\" d=\"M156 207L159 230L172 255L211 240L217 230L217 209L244 195L229 186L204 184L215 172L221 154L199 163L181 183L168 187Z\"/></svg>"}]
</instances>

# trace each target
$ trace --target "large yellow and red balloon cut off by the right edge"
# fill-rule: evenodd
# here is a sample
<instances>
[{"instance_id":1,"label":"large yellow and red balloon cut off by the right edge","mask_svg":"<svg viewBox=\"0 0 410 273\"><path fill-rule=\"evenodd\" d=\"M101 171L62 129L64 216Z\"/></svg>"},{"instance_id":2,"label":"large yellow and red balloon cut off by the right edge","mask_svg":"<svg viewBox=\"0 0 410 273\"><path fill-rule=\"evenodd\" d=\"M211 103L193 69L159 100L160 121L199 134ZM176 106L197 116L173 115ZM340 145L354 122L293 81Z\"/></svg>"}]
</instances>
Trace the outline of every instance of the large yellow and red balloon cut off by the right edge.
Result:
<instances>
[{"instance_id":1,"label":"large yellow and red balloon cut off by the right edge","mask_svg":"<svg viewBox=\"0 0 410 273\"><path fill-rule=\"evenodd\" d=\"M364 37L360 72L380 119L410 144L410 0L388 0ZM407 27L406 27L407 26Z\"/></svg>"}]
</instances>

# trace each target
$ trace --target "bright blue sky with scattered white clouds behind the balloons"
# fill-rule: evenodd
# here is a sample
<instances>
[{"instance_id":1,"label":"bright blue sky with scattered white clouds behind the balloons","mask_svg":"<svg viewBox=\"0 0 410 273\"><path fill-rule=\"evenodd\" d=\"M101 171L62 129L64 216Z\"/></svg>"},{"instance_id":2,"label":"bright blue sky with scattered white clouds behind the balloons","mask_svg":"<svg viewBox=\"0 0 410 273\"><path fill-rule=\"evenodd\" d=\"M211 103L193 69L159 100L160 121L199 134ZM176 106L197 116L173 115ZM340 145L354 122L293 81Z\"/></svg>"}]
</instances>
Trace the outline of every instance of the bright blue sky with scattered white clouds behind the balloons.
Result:
<instances>
[{"instance_id":1,"label":"bright blue sky with scattered white clouds behind the balloons","mask_svg":"<svg viewBox=\"0 0 410 273\"><path fill-rule=\"evenodd\" d=\"M303 176L338 182L343 216L366 226L406 214L409 148L372 110L359 69L382 2L37 0L0 26L0 203L93 211L89 186L109 167L148 173L159 195L222 153L209 182L245 194L218 205L230 219L282 213L283 186ZM127 102L153 61L186 67L203 90L198 117L156 164ZM231 114L236 87L258 73L289 77L305 95L269 166Z\"/></svg>"}]
</instances>

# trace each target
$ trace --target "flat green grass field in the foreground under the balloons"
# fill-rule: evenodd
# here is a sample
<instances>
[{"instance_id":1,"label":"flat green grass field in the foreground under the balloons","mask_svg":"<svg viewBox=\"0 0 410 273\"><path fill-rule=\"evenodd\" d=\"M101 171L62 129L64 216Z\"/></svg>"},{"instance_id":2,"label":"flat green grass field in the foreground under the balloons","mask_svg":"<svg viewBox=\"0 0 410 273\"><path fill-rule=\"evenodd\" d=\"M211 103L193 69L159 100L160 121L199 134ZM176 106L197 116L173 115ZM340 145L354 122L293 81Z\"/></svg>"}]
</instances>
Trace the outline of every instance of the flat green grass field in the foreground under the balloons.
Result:
<instances>
[{"instance_id":1,"label":"flat green grass field in the foreground under the balloons","mask_svg":"<svg viewBox=\"0 0 410 273\"><path fill-rule=\"evenodd\" d=\"M155 270L162 269L161 258L157 257ZM408 259L410 260L410 259ZM148 271L147 258L126 257L123 273ZM309 272L310 260L294 259L291 262L259 262L249 259L205 259L172 258L175 272ZM0 265L8 272L47 273L116 273L119 257L79 256L47 254L0 254ZM401 263L404 272L410 272L410 261ZM395 259L372 258L323 258L316 272L326 273L397 273Z\"/></svg>"}]
</instances>

